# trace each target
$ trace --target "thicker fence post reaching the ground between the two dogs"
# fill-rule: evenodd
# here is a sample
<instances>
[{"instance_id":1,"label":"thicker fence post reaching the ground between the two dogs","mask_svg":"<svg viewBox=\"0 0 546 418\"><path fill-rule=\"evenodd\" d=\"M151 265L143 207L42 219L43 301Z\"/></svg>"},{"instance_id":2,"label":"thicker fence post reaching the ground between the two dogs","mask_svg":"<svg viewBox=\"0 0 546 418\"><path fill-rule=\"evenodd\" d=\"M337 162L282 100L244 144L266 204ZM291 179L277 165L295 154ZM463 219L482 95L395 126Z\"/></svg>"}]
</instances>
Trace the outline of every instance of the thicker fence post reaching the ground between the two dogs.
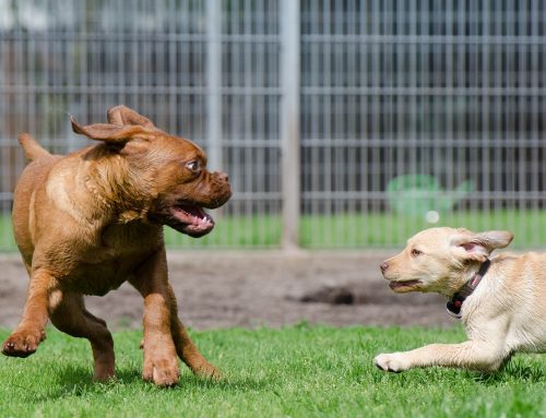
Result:
<instances>
[{"instance_id":1,"label":"thicker fence post reaching the ground between the two dogs","mask_svg":"<svg viewBox=\"0 0 546 418\"><path fill-rule=\"evenodd\" d=\"M282 244L299 247L299 0L282 0L281 22L281 176Z\"/></svg>"}]
</instances>

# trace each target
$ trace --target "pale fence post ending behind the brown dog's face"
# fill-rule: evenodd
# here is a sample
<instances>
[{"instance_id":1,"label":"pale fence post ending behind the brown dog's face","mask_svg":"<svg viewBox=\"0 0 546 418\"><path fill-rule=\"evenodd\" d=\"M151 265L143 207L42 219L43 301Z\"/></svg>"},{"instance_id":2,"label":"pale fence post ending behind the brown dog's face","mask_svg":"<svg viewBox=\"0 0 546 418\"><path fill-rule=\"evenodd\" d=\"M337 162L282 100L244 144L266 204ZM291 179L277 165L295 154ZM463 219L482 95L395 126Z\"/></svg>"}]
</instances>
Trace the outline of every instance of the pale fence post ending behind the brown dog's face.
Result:
<instances>
[{"instance_id":1,"label":"pale fence post ending behind the brown dog's face","mask_svg":"<svg viewBox=\"0 0 546 418\"><path fill-rule=\"evenodd\" d=\"M222 1L206 0L206 136L209 167L222 168Z\"/></svg>"}]
</instances>

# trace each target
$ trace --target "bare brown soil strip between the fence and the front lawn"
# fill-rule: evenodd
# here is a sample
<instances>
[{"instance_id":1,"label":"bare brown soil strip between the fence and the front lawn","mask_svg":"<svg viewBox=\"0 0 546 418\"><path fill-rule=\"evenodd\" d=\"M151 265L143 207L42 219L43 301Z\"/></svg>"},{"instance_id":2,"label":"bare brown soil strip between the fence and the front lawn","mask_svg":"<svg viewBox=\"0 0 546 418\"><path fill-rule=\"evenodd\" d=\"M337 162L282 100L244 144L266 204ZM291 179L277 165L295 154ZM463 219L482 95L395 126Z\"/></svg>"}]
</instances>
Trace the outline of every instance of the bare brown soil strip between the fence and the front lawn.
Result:
<instances>
[{"instance_id":1,"label":"bare brown soil strip between the fence and the front lawn","mask_svg":"<svg viewBox=\"0 0 546 418\"><path fill-rule=\"evenodd\" d=\"M307 321L330 325L456 323L446 300L431 294L396 295L379 272L394 252L170 252L169 276L182 321L198 330ZM0 326L13 329L28 279L17 254L0 255ZM110 329L141 327L142 298L128 284L86 297Z\"/></svg>"}]
</instances>

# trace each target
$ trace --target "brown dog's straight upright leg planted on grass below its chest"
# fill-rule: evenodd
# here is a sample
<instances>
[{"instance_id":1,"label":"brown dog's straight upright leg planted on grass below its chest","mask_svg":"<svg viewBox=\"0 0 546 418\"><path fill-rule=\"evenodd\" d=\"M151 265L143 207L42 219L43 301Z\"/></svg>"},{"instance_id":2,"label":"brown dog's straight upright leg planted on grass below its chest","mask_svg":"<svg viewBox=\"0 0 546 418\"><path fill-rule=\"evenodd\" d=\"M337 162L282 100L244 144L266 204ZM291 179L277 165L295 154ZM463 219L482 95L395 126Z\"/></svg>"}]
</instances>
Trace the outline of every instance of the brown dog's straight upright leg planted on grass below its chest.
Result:
<instances>
[{"instance_id":1,"label":"brown dog's straight upright leg planted on grass below its chest","mask_svg":"<svg viewBox=\"0 0 546 418\"><path fill-rule=\"evenodd\" d=\"M142 378L159 386L178 382L179 369L170 334L165 249L151 255L130 283L144 298L144 365Z\"/></svg>"}]
</instances>

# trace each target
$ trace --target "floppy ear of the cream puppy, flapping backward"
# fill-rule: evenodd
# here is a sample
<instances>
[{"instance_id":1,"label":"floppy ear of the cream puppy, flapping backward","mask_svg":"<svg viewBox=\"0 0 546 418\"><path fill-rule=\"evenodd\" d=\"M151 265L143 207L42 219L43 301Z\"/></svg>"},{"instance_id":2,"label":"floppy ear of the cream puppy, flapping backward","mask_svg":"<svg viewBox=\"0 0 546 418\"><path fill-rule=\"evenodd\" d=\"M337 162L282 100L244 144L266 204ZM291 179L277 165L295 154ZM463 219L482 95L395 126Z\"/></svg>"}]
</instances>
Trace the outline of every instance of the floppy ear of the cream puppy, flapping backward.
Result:
<instances>
[{"instance_id":1,"label":"floppy ear of the cream puppy, flapping backward","mask_svg":"<svg viewBox=\"0 0 546 418\"><path fill-rule=\"evenodd\" d=\"M489 230L479 234L464 231L452 240L452 244L463 248L468 260L483 263L494 250L507 247L512 239L513 235L507 230Z\"/></svg>"}]
</instances>

